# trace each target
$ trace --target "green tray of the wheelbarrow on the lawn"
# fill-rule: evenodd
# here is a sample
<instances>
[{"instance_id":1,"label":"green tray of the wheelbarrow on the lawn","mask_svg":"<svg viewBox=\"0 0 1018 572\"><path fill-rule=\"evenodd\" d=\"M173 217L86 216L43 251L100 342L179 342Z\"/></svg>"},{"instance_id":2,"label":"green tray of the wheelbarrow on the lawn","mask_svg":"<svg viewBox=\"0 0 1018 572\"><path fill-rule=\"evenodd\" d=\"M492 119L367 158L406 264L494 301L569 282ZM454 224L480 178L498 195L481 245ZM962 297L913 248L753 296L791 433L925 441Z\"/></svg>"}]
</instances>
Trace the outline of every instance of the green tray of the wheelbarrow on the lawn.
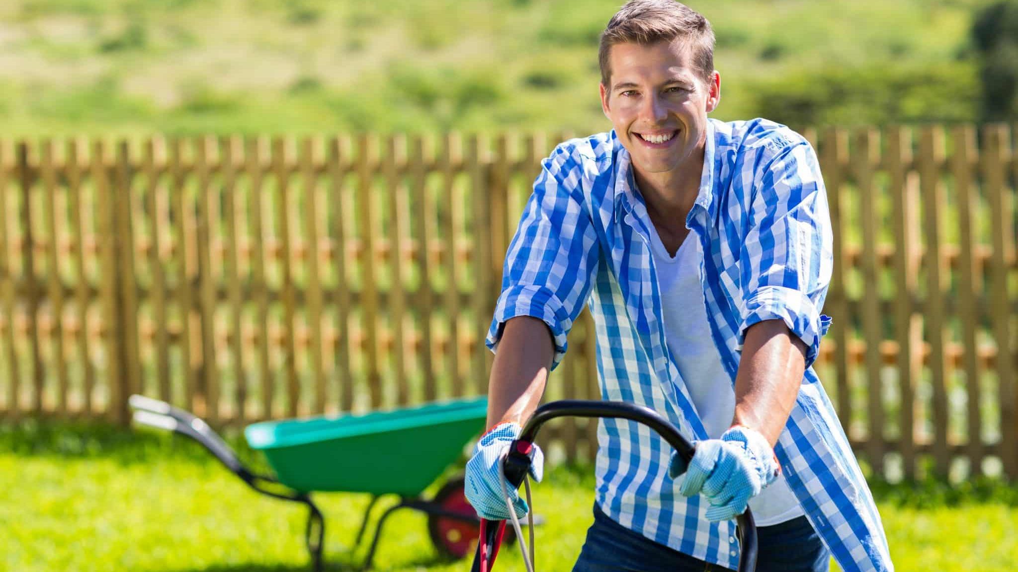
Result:
<instances>
[{"instance_id":1,"label":"green tray of the wheelbarrow on the lawn","mask_svg":"<svg viewBox=\"0 0 1018 572\"><path fill-rule=\"evenodd\" d=\"M277 479L295 491L417 497L484 430L488 399L248 425Z\"/></svg>"}]
</instances>

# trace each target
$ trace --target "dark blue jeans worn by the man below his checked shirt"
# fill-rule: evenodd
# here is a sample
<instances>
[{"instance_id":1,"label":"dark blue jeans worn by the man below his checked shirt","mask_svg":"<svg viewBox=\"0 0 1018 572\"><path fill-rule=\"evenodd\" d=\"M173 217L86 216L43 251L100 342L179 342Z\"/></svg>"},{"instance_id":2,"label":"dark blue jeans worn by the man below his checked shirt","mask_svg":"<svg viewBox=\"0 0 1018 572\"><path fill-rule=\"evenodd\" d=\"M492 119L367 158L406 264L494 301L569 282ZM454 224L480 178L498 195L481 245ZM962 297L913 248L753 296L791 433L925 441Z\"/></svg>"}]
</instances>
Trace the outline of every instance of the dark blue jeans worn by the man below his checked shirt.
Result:
<instances>
[{"instance_id":1,"label":"dark blue jeans worn by the man below his checked shirt","mask_svg":"<svg viewBox=\"0 0 1018 572\"><path fill-rule=\"evenodd\" d=\"M757 572L828 572L831 553L800 516L756 529L759 553ZM573 572L721 572L728 570L633 532L609 518L597 504L593 524Z\"/></svg>"}]
</instances>

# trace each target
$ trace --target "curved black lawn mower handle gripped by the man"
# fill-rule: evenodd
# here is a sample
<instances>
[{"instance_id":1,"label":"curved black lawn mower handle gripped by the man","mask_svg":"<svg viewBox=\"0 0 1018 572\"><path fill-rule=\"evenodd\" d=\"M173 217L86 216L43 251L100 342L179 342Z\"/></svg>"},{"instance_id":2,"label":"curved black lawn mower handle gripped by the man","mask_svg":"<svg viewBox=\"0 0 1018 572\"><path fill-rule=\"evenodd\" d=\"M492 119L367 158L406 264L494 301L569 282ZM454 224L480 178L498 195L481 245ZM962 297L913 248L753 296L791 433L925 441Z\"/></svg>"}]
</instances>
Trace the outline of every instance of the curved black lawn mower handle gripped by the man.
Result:
<instances>
[{"instance_id":1,"label":"curved black lawn mower handle gripped by the man","mask_svg":"<svg viewBox=\"0 0 1018 572\"><path fill-rule=\"evenodd\" d=\"M530 463L531 447L538 430L546 421L556 417L605 417L630 419L642 423L654 430L669 445L671 445L683 459L687 462L692 459L693 446L689 444L679 431L668 419L662 417L657 411L648 407L627 403L624 401L586 401L586 400L562 400L546 403L534 411L533 416L523 426L519 439L514 441L509 448L509 454L505 460L506 481L515 488L523 482ZM477 542L477 551L473 558L473 572L482 571L482 554L487 557L485 572L491 572L490 564L494 561L494 556L498 553L498 532L501 521L485 521L483 537ZM739 546L742 551L739 555L738 572L753 572L756 569L756 525L749 509L736 517L738 527L736 535L739 538ZM490 556L489 556L490 555Z\"/></svg>"}]
</instances>

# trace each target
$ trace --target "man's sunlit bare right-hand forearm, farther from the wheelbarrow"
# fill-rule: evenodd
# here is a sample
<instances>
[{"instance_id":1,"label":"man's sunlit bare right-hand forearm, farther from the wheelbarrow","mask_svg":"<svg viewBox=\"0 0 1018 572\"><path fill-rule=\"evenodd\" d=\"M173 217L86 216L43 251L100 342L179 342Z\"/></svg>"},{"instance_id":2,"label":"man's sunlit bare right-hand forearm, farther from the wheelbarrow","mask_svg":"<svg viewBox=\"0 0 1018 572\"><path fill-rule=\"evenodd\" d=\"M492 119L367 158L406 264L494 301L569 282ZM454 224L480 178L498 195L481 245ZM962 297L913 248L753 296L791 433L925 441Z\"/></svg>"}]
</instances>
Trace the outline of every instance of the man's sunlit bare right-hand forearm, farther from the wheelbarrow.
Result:
<instances>
[{"instance_id":1,"label":"man's sunlit bare right-hand forearm, farther from the wheelbarrow","mask_svg":"<svg viewBox=\"0 0 1018 572\"><path fill-rule=\"evenodd\" d=\"M780 320L746 330L735 377L733 424L756 430L774 446L788 422L805 371L806 346Z\"/></svg>"}]
</instances>

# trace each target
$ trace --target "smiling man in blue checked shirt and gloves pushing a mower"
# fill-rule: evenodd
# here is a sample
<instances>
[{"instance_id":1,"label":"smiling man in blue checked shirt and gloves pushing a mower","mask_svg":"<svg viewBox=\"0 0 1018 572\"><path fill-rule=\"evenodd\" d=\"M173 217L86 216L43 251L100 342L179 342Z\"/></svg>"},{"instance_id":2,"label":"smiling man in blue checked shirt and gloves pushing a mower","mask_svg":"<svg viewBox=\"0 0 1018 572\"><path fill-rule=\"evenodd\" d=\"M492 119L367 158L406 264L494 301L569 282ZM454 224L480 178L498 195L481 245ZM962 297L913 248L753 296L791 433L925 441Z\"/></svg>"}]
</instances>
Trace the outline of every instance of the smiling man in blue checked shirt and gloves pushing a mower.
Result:
<instances>
[{"instance_id":1,"label":"smiling man in blue checked shirt and gloves pushing a mower","mask_svg":"<svg viewBox=\"0 0 1018 572\"><path fill-rule=\"evenodd\" d=\"M574 570L735 568L747 505L761 572L828 570L832 555L846 571L893 570L811 367L833 265L815 154L783 125L708 119L713 49L708 21L672 0L633 0L609 22L601 101L614 129L560 145L534 183L488 339L491 428L467 497L509 517L497 459L589 303L604 398L665 415L696 454L686 467L646 427L601 420L595 522Z\"/></svg>"}]
</instances>

